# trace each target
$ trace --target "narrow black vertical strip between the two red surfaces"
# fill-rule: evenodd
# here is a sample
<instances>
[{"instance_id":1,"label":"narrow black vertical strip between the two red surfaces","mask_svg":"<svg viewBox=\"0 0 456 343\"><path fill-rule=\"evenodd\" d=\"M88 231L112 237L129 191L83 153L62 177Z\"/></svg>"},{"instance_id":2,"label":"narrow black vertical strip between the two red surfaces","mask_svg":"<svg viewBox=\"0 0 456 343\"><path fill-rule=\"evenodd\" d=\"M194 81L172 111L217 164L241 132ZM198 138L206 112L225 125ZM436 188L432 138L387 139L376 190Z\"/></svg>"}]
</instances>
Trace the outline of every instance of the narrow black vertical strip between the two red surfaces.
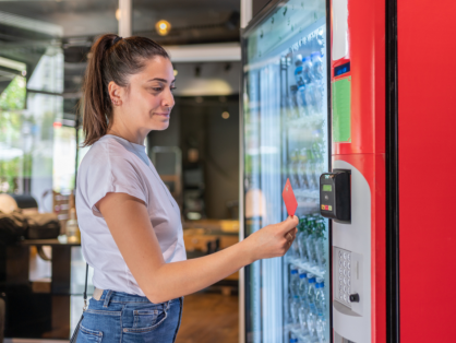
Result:
<instances>
[{"instance_id":1,"label":"narrow black vertical strip between the two red surfaces","mask_svg":"<svg viewBox=\"0 0 456 343\"><path fill-rule=\"evenodd\" d=\"M386 0L386 341L399 342L397 2Z\"/></svg>"}]
</instances>

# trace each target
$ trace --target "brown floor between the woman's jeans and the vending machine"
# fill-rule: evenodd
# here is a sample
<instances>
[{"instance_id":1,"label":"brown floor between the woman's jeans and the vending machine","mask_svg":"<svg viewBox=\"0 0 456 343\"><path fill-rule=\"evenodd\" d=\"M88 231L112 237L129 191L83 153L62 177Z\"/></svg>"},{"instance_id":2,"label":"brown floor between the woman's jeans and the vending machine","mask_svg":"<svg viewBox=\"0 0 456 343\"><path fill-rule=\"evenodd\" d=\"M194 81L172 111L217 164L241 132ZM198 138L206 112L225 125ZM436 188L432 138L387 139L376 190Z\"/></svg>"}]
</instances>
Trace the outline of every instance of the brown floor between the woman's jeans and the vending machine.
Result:
<instances>
[{"instance_id":1,"label":"brown floor between the woman's jeans and the vending machine","mask_svg":"<svg viewBox=\"0 0 456 343\"><path fill-rule=\"evenodd\" d=\"M239 336L239 297L196 293L183 300L182 323L176 343L236 343Z\"/></svg>"}]
</instances>

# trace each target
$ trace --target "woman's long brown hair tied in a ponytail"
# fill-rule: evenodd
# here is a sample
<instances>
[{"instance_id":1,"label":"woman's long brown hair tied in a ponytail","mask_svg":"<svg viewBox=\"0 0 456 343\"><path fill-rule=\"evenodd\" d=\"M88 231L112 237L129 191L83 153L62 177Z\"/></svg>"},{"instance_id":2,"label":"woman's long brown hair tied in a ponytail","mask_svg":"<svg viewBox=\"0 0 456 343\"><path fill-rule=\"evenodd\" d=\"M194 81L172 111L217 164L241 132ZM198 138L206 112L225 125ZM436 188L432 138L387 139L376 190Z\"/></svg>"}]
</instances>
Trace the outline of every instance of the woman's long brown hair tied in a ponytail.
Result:
<instances>
[{"instance_id":1,"label":"woman's long brown hair tied in a ponytail","mask_svg":"<svg viewBox=\"0 0 456 343\"><path fill-rule=\"evenodd\" d=\"M81 102L84 146L104 137L112 122L109 82L128 87L129 75L141 72L146 60L156 56L169 59L166 50L152 39L137 36L121 38L112 34L100 36L89 54Z\"/></svg>"}]
</instances>

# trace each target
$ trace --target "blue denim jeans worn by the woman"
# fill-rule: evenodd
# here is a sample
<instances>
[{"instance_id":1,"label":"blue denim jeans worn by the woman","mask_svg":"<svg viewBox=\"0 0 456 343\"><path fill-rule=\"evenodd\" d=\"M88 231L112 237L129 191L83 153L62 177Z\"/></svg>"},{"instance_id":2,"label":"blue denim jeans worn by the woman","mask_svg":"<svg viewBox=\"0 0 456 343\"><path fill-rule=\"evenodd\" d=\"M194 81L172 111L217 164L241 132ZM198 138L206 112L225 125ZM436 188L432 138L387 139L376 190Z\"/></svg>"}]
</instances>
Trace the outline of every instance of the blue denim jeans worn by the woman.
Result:
<instances>
[{"instance_id":1,"label":"blue denim jeans worn by the woman","mask_svg":"<svg viewBox=\"0 0 456 343\"><path fill-rule=\"evenodd\" d=\"M146 297L104 291L91 298L77 343L173 343L182 318L183 297L153 304Z\"/></svg>"}]
</instances>

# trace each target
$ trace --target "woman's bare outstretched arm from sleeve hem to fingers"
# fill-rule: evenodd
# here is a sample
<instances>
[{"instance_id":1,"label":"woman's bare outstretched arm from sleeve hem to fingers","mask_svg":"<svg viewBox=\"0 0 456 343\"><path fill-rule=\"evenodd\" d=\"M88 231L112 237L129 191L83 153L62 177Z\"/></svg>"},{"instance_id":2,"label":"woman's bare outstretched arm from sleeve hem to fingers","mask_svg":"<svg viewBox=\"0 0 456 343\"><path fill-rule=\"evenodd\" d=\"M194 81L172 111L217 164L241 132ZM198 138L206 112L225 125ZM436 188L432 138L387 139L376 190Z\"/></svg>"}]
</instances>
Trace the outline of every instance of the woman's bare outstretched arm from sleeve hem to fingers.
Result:
<instances>
[{"instance_id":1,"label":"woman's bare outstretched arm from sleeve hem to fingers","mask_svg":"<svg viewBox=\"0 0 456 343\"><path fill-rule=\"evenodd\" d=\"M97 208L127 265L152 303L201 291L259 259L283 256L296 237L298 218L268 225L239 244L199 259L165 263L145 204L108 193Z\"/></svg>"}]
</instances>

